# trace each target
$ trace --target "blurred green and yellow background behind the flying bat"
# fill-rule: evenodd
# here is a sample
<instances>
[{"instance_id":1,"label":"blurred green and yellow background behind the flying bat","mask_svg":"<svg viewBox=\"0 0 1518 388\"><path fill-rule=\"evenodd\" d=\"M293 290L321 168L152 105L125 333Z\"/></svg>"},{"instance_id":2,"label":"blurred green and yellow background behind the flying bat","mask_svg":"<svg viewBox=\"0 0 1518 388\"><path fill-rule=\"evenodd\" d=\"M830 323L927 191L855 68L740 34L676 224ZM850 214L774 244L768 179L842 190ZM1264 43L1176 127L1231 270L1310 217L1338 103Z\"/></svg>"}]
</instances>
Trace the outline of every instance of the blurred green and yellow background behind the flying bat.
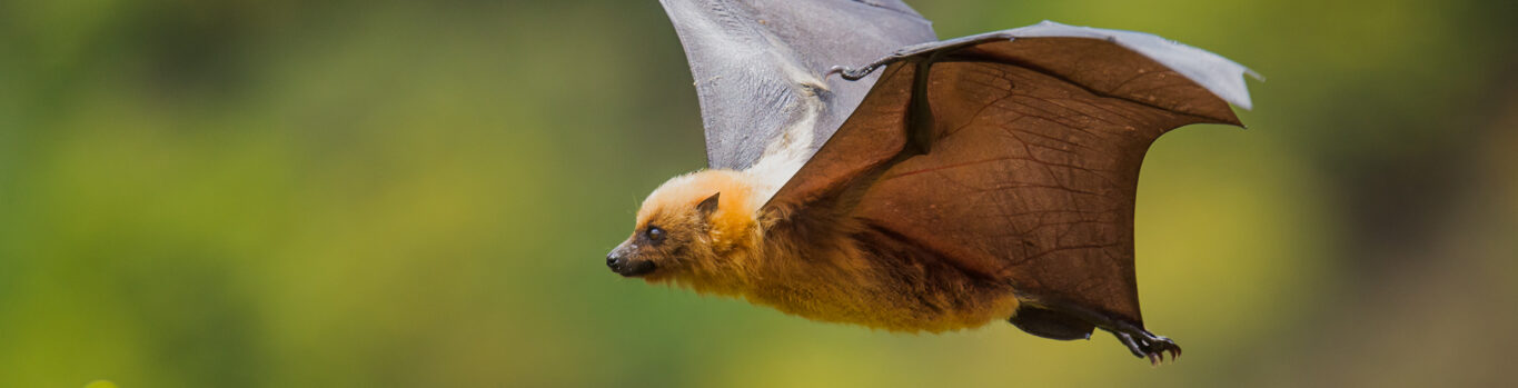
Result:
<instances>
[{"instance_id":1,"label":"blurred green and yellow background behind the flying bat","mask_svg":"<svg viewBox=\"0 0 1518 388\"><path fill-rule=\"evenodd\" d=\"M1149 152L1152 370L606 270L703 167L656 2L0 2L0 386L1450 386L1518 346L1513 2L911 2L1269 77Z\"/></svg>"}]
</instances>

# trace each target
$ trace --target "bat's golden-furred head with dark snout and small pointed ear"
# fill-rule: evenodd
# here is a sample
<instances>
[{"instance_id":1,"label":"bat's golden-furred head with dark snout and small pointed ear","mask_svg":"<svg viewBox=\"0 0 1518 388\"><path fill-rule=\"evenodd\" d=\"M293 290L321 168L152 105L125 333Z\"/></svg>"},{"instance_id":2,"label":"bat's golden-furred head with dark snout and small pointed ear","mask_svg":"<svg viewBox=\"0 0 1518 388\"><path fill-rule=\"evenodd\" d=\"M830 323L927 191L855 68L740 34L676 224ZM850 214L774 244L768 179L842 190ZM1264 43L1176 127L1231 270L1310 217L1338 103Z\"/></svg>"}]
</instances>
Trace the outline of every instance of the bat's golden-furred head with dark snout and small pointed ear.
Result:
<instances>
[{"instance_id":1,"label":"bat's golden-furred head with dark snout and small pointed ear","mask_svg":"<svg viewBox=\"0 0 1518 388\"><path fill-rule=\"evenodd\" d=\"M686 285L736 274L735 255L756 246L757 223L747 174L704 170L665 182L638 209L633 235L606 256L618 274Z\"/></svg>"}]
</instances>

